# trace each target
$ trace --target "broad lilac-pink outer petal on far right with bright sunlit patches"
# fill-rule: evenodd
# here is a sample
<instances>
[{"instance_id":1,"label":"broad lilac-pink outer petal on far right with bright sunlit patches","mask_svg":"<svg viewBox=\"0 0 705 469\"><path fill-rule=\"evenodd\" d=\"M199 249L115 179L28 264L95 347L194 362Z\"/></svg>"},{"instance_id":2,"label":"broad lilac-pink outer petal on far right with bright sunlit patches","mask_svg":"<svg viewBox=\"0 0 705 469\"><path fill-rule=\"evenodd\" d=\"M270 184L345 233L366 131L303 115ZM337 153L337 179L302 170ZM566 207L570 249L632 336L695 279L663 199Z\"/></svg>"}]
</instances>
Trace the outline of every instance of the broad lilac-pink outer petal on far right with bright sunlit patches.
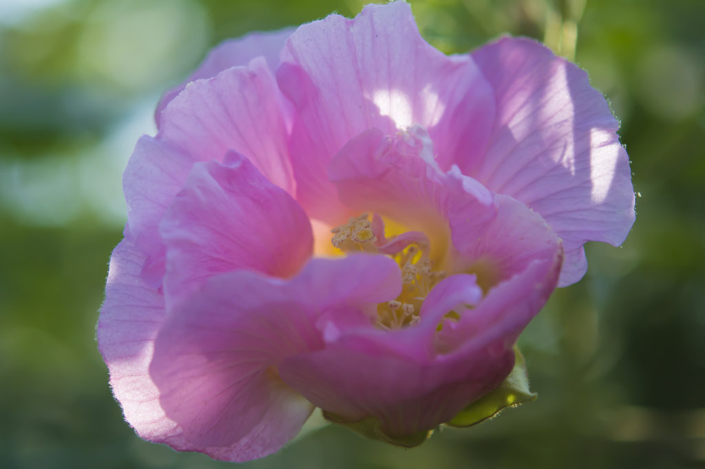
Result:
<instances>
[{"instance_id":1,"label":"broad lilac-pink outer petal on far right with bright sunlit patches","mask_svg":"<svg viewBox=\"0 0 705 469\"><path fill-rule=\"evenodd\" d=\"M635 194L618 122L587 73L531 39L502 38L472 54L496 96L484 158L458 158L462 173L537 211L563 239L560 286L587 270L587 241L621 244Z\"/></svg>"}]
</instances>

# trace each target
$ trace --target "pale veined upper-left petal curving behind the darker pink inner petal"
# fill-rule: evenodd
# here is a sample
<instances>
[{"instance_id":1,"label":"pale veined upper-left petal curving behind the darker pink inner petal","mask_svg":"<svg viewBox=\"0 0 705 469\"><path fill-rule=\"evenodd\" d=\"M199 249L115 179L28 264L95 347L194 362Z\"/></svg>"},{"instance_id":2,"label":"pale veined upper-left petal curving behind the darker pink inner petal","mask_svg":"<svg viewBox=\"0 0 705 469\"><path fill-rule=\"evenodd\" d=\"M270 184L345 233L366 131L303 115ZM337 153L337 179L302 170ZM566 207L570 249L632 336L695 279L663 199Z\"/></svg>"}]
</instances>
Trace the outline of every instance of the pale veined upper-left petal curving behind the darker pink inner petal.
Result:
<instances>
[{"instance_id":1,"label":"pale veined upper-left petal curving behind the darker pink inner petal","mask_svg":"<svg viewBox=\"0 0 705 469\"><path fill-rule=\"evenodd\" d=\"M288 104L263 58L193 82L162 114L157 137L142 137L123 175L130 231L148 258L142 277L159 287L164 244L159 222L198 161L221 161L229 149L247 156L273 184L294 192L288 150Z\"/></svg>"}]
</instances>

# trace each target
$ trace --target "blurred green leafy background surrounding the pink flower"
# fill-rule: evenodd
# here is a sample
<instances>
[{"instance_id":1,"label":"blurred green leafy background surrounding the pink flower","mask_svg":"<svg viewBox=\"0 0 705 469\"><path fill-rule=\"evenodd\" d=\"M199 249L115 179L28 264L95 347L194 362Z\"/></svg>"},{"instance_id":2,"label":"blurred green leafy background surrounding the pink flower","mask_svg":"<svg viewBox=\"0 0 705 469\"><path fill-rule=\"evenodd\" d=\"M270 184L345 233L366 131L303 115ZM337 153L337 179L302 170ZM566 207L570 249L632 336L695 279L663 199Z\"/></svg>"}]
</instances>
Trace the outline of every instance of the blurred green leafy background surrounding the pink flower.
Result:
<instances>
[{"instance_id":1,"label":"blurred green leafy background surrounding the pink flower","mask_svg":"<svg viewBox=\"0 0 705 469\"><path fill-rule=\"evenodd\" d=\"M94 342L121 173L210 46L360 0L0 0L0 467L218 468L142 442ZM402 450L309 432L247 468L705 468L705 1L413 0L431 44L544 40L611 101L637 223L520 339L539 400Z\"/></svg>"}]
</instances>

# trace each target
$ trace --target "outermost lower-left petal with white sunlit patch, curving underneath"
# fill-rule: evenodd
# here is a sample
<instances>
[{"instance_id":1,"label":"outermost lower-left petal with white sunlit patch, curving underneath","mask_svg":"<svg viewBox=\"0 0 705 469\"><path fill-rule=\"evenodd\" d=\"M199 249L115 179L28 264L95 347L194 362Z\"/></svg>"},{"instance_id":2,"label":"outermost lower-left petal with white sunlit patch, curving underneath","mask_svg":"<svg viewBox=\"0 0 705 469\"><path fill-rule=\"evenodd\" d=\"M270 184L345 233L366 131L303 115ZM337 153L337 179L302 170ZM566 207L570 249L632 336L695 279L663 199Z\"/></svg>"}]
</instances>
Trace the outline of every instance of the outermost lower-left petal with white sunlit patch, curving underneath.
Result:
<instances>
[{"instance_id":1,"label":"outermost lower-left petal with white sunlit patch, curving underneath","mask_svg":"<svg viewBox=\"0 0 705 469\"><path fill-rule=\"evenodd\" d=\"M311 412L310 404L286 387L272 390L262 420L231 446L192 444L183 437L181 427L166 416L159 389L149 376L154 339L164 323L164 297L141 280L144 262L145 256L135 249L131 233L125 230L125 239L111 256L106 299L97 326L98 347L125 420L144 439L223 461L250 461L281 449Z\"/></svg>"}]
</instances>

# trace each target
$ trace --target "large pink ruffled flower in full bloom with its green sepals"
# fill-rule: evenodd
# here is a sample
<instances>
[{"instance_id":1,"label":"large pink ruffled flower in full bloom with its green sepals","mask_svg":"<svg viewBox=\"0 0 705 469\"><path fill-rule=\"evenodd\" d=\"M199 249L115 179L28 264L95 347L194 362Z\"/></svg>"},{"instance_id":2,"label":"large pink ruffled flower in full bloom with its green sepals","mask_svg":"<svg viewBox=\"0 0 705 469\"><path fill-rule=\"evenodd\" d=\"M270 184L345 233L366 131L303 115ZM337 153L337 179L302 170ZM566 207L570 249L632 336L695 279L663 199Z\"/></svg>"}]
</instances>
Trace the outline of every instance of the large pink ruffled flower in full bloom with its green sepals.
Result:
<instances>
[{"instance_id":1,"label":"large pink ruffled flower in full bloom with its green sepals","mask_svg":"<svg viewBox=\"0 0 705 469\"><path fill-rule=\"evenodd\" d=\"M247 461L319 407L412 446L532 399L517 337L635 219L580 68L509 37L445 56L397 1L188 82L125 170L97 330L140 437Z\"/></svg>"}]
</instances>

